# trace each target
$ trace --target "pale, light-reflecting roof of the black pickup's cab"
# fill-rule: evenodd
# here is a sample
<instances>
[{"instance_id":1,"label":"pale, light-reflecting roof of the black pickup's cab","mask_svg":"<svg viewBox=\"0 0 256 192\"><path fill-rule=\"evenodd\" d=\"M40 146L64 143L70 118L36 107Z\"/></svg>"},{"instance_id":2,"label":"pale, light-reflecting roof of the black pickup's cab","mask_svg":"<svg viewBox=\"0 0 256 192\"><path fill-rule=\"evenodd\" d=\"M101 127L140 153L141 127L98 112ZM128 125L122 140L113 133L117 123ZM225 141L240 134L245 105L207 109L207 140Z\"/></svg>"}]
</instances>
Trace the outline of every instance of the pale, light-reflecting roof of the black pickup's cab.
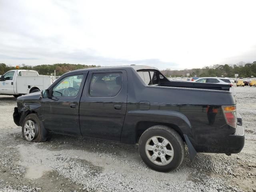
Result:
<instances>
[{"instance_id":1,"label":"pale, light-reflecting roof of the black pickup's cab","mask_svg":"<svg viewBox=\"0 0 256 192\"><path fill-rule=\"evenodd\" d=\"M124 65L124 66L107 66L107 67L96 67L96 68L86 68L86 69L79 69L79 70L75 70L77 71L95 71L95 70L116 70L116 69L128 69L128 68L133 68L134 70L148 70L148 69L152 69L152 70L158 70L157 68L154 67L150 67L150 66L146 66L146 65ZM74 72L74 71L72 71Z\"/></svg>"}]
</instances>

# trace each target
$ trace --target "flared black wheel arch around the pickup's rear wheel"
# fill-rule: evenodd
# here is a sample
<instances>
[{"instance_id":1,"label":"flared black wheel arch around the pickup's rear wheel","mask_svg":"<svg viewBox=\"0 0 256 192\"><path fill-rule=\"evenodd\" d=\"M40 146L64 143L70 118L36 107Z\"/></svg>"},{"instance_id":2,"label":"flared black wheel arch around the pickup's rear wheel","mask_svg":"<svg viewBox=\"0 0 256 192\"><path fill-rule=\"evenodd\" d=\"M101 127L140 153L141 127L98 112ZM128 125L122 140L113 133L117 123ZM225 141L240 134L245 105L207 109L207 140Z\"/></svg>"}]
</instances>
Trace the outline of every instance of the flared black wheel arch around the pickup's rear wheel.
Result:
<instances>
[{"instance_id":1,"label":"flared black wheel arch around the pickup's rear wheel","mask_svg":"<svg viewBox=\"0 0 256 192\"><path fill-rule=\"evenodd\" d=\"M126 114L120 141L137 143L138 138L148 128L154 125L165 125L174 129L182 137L192 136L192 126L189 119L182 113L172 110L134 110Z\"/></svg>"}]
</instances>

